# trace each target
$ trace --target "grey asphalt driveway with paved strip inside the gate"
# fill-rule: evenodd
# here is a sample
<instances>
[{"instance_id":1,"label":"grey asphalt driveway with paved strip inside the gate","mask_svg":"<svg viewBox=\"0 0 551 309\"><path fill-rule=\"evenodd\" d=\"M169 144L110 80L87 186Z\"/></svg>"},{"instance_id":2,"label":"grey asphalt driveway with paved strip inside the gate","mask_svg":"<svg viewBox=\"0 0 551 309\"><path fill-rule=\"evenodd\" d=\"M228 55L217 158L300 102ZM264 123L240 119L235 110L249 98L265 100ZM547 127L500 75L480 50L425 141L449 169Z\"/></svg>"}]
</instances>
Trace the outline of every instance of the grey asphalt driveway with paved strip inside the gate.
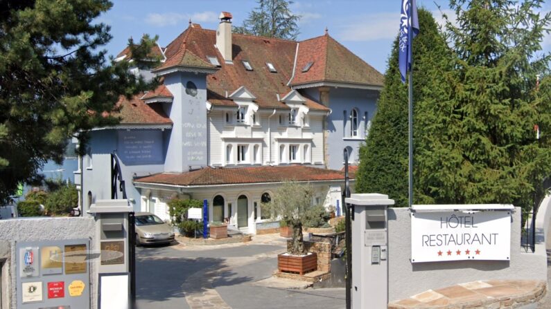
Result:
<instances>
[{"instance_id":1,"label":"grey asphalt driveway with paved strip inside the gate","mask_svg":"<svg viewBox=\"0 0 551 309\"><path fill-rule=\"evenodd\" d=\"M345 308L344 289L292 290L254 283L272 276L285 238L250 243L138 247L138 308Z\"/></svg>"}]
</instances>

